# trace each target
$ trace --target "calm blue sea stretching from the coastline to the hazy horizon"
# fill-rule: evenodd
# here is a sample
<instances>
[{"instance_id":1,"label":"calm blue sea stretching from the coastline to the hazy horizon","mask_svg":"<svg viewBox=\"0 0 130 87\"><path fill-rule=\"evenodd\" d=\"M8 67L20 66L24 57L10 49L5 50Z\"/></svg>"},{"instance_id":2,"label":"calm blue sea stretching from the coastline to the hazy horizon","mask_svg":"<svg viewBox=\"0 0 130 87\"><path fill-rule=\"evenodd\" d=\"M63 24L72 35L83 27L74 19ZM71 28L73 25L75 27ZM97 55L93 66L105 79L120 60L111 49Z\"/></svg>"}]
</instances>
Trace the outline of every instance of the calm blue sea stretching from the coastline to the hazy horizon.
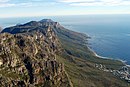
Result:
<instances>
[{"instance_id":1,"label":"calm blue sea stretching from the coastline to the hazy horizon","mask_svg":"<svg viewBox=\"0 0 130 87\"><path fill-rule=\"evenodd\" d=\"M31 20L49 18L70 30L91 37L89 47L98 55L127 61L130 65L130 15L77 15L55 17L0 18L3 28Z\"/></svg>"}]
</instances>

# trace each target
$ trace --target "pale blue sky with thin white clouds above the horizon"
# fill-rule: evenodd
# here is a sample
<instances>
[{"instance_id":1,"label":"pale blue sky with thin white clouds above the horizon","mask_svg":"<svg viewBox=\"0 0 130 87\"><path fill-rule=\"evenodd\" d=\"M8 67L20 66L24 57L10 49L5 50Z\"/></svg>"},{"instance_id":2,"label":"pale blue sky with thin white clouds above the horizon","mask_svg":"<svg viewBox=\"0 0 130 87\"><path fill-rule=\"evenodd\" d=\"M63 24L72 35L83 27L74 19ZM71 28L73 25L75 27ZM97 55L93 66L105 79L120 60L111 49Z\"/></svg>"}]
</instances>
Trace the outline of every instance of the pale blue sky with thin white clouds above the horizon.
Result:
<instances>
[{"instance_id":1,"label":"pale blue sky with thin white clouds above the horizon","mask_svg":"<svg viewBox=\"0 0 130 87\"><path fill-rule=\"evenodd\" d=\"M130 0L0 0L0 17L130 14Z\"/></svg>"}]
</instances>

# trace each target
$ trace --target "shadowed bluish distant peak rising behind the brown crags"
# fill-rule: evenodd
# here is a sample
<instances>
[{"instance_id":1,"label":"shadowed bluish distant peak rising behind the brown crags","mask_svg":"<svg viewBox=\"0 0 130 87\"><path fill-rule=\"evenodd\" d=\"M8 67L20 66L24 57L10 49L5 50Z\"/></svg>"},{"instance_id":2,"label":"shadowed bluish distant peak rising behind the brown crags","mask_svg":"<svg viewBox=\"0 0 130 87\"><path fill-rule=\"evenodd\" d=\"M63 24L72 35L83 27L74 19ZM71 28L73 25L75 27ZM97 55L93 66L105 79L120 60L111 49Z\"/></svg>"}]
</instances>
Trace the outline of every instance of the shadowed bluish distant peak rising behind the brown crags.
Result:
<instances>
[{"instance_id":1,"label":"shadowed bluish distant peak rising behind the brown crags","mask_svg":"<svg viewBox=\"0 0 130 87\"><path fill-rule=\"evenodd\" d=\"M16 25L12 27L5 28L2 33L8 32L11 34L25 33L35 30L45 30L47 27L58 28L62 26L58 22L54 22L51 19L42 19L41 21L30 21L23 25Z\"/></svg>"}]
</instances>

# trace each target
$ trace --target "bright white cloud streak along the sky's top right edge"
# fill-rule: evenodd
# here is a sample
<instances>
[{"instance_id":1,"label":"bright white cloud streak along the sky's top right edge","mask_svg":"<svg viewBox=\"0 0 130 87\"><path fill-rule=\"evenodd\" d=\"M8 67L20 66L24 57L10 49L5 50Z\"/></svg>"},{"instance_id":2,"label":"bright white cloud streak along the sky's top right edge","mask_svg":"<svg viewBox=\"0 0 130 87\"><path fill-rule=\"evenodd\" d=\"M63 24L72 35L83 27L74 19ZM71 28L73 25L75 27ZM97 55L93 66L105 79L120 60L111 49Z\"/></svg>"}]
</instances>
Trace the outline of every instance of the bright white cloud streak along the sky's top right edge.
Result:
<instances>
[{"instance_id":1,"label":"bright white cloud streak along the sky's top right edge","mask_svg":"<svg viewBox=\"0 0 130 87\"><path fill-rule=\"evenodd\" d=\"M126 6L130 0L58 0L71 6Z\"/></svg>"}]
</instances>

